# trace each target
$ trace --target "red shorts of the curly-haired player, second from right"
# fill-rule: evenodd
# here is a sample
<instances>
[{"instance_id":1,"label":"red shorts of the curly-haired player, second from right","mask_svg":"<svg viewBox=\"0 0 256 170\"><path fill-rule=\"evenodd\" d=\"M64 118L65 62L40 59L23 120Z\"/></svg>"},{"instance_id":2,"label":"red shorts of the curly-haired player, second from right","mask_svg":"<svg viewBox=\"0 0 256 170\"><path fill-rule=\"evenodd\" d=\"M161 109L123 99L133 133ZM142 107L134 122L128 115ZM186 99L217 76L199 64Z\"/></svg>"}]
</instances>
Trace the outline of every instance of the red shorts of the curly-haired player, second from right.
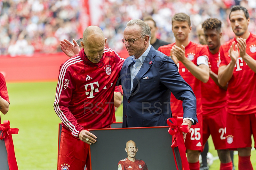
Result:
<instances>
[{"instance_id":1,"label":"red shorts of the curly-haired player, second from right","mask_svg":"<svg viewBox=\"0 0 256 170\"><path fill-rule=\"evenodd\" d=\"M218 112L210 115L203 115L203 144L212 135L215 149L227 149L226 144L226 108L220 108Z\"/></svg>"}]
</instances>

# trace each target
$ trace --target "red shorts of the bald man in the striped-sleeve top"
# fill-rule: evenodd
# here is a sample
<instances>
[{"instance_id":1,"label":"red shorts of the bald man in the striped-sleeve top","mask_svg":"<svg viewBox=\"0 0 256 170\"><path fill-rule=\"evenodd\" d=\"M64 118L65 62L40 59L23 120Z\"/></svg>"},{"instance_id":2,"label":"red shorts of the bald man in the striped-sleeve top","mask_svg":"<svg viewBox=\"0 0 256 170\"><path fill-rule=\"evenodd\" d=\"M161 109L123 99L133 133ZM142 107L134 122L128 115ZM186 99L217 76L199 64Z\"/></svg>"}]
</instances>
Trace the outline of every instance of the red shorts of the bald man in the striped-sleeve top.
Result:
<instances>
[{"instance_id":1,"label":"red shorts of the bald man in the striped-sleeve top","mask_svg":"<svg viewBox=\"0 0 256 170\"><path fill-rule=\"evenodd\" d=\"M90 170L89 144L73 137L69 130L62 128L58 170L84 170L85 164Z\"/></svg>"}]
</instances>

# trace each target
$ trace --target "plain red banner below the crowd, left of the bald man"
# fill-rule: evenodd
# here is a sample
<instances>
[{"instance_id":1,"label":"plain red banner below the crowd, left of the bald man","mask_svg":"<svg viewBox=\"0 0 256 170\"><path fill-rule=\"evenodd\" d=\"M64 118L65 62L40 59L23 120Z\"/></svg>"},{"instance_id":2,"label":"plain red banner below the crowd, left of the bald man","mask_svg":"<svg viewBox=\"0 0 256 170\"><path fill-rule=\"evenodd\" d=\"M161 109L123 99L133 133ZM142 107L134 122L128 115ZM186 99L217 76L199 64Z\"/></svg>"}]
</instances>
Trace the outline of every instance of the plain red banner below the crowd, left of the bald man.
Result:
<instances>
[{"instance_id":1,"label":"plain red banner below the crowd, left of the bald man","mask_svg":"<svg viewBox=\"0 0 256 170\"><path fill-rule=\"evenodd\" d=\"M33 56L1 56L0 72L10 81L57 81L60 65L68 59L63 52Z\"/></svg>"}]
</instances>

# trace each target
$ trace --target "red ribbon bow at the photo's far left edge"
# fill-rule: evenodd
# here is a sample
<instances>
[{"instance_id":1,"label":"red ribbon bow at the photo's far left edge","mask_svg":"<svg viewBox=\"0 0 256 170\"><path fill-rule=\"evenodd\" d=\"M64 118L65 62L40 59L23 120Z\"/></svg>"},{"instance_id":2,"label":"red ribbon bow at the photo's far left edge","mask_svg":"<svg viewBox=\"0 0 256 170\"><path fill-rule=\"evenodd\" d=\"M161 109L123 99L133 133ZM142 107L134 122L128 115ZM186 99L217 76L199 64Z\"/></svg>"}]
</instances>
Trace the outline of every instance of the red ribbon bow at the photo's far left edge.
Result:
<instances>
[{"instance_id":1,"label":"red ribbon bow at the photo's far left edge","mask_svg":"<svg viewBox=\"0 0 256 170\"><path fill-rule=\"evenodd\" d=\"M0 139L4 139L6 151L7 151L7 160L9 165L9 170L18 170L18 165L14 153L14 146L12 141L12 134L18 134L19 129L10 128L10 121L4 120L3 124L0 124Z\"/></svg>"}]
</instances>

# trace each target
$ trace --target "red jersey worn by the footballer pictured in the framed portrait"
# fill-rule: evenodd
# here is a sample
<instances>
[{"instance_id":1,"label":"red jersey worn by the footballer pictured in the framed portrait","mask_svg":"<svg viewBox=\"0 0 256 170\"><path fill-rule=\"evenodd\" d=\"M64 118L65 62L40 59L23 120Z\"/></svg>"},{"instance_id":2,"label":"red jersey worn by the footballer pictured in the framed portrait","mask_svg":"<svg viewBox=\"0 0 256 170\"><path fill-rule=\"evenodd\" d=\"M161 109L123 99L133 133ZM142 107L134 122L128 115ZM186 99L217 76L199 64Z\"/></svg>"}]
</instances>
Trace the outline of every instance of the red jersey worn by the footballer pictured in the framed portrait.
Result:
<instances>
[{"instance_id":1,"label":"red jersey worn by the footballer pictured in the framed portrait","mask_svg":"<svg viewBox=\"0 0 256 170\"><path fill-rule=\"evenodd\" d=\"M143 160L136 159L132 162L125 158L118 162L118 170L148 170L148 166Z\"/></svg>"}]
</instances>

